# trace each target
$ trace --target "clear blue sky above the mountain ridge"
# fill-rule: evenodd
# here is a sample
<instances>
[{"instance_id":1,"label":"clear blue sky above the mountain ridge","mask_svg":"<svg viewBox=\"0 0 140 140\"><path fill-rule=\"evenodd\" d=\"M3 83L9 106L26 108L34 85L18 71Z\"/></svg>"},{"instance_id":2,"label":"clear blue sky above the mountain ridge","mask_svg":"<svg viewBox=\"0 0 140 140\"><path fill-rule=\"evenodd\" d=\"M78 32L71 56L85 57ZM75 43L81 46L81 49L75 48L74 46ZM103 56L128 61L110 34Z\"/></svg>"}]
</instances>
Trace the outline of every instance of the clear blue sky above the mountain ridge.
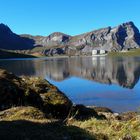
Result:
<instances>
[{"instance_id":1,"label":"clear blue sky above the mountain ridge","mask_svg":"<svg viewBox=\"0 0 140 140\"><path fill-rule=\"evenodd\" d=\"M140 0L0 0L0 22L18 34L76 35L126 21L140 29Z\"/></svg>"}]
</instances>

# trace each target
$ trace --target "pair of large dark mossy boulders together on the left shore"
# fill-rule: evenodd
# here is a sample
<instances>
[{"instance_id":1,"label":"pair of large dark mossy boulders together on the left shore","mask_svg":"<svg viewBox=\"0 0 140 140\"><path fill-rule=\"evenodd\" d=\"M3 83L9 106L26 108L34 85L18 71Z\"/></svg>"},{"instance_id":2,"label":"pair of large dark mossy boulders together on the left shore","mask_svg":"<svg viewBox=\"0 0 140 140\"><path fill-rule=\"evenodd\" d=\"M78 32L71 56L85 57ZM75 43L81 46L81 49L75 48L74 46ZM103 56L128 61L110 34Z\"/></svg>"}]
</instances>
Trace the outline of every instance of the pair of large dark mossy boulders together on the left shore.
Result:
<instances>
[{"instance_id":1,"label":"pair of large dark mossy boulders together on the left shore","mask_svg":"<svg viewBox=\"0 0 140 140\"><path fill-rule=\"evenodd\" d=\"M0 69L0 110L33 106L47 117L66 117L72 102L57 87L41 78L17 77Z\"/></svg>"}]
</instances>

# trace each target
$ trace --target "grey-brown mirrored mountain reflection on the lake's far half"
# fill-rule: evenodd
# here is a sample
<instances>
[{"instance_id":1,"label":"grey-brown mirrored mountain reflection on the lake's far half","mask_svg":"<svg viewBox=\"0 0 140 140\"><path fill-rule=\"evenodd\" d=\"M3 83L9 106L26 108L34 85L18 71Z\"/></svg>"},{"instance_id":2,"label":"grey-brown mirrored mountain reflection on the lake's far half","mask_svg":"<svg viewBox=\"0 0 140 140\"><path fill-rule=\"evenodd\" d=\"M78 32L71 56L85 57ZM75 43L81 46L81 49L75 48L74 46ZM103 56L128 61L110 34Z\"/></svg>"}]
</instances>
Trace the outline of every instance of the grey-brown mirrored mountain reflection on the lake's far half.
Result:
<instances>
[{"instance_id":1,"label":"grey-brown mirrored mountain reflection on the lake's far half","mask_svg":"<svg viewBox=\"0 0 140 140\"><path fill-rule=\"evenodd\" d=\"M1 60L0 68L16 75L48 77L62 81L80 77L104 84L134 88L140 77L140 59L135 57L73 57L46 60Z\"/></svg>"}]
</instances>

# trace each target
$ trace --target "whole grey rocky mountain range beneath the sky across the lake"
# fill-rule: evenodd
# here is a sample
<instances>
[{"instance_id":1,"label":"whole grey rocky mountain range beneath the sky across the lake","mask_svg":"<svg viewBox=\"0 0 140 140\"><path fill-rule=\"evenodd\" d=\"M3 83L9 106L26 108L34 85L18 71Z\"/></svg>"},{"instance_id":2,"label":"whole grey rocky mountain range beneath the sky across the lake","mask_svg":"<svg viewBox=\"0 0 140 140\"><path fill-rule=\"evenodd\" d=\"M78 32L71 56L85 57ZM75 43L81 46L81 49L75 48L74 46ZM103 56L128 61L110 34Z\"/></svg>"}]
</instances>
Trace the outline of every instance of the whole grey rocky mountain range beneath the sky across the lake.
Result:
<instances>
[{"instance_id":1,"label":"whole grey rocky mountain range beneath the sky across the lake","mask_svg":"<svg viewBox=\"0 0 140 140\"><path fill-rule=\"evenodd\" d=\"M140 33L131 21L76 36L61 32L49 36L17 35L0 24L0 48L27 54L82 55L91 54L93 49L121 51L139 47Z\"/></svg>"}]
</instances>

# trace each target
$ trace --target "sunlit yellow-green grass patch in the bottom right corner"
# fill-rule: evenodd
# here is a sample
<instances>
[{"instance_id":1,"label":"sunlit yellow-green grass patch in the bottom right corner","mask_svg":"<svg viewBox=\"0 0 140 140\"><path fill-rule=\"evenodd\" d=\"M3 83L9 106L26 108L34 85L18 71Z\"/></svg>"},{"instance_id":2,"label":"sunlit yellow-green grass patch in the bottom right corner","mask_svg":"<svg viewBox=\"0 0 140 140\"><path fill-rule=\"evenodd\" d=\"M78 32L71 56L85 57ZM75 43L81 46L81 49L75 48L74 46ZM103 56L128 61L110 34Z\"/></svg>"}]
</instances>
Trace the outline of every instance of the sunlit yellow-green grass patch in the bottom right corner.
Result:
<instances>
[{"instance_id":1,"label":"sunlit yellow-green grass patch in the bottom right corner","mask_svg":"<svg viewBox=\"0 0 140 140\"><path fill-rule=\"evenodd\" d=\"M140 139L140 117L133 118L129 121L118 120L97 120L91 118L86 121L73 120L68 125L77 126L88 131L91 135L104 136L109 140L123 140L129 137L128 140Z\"/></svg>"}]
</instances>

